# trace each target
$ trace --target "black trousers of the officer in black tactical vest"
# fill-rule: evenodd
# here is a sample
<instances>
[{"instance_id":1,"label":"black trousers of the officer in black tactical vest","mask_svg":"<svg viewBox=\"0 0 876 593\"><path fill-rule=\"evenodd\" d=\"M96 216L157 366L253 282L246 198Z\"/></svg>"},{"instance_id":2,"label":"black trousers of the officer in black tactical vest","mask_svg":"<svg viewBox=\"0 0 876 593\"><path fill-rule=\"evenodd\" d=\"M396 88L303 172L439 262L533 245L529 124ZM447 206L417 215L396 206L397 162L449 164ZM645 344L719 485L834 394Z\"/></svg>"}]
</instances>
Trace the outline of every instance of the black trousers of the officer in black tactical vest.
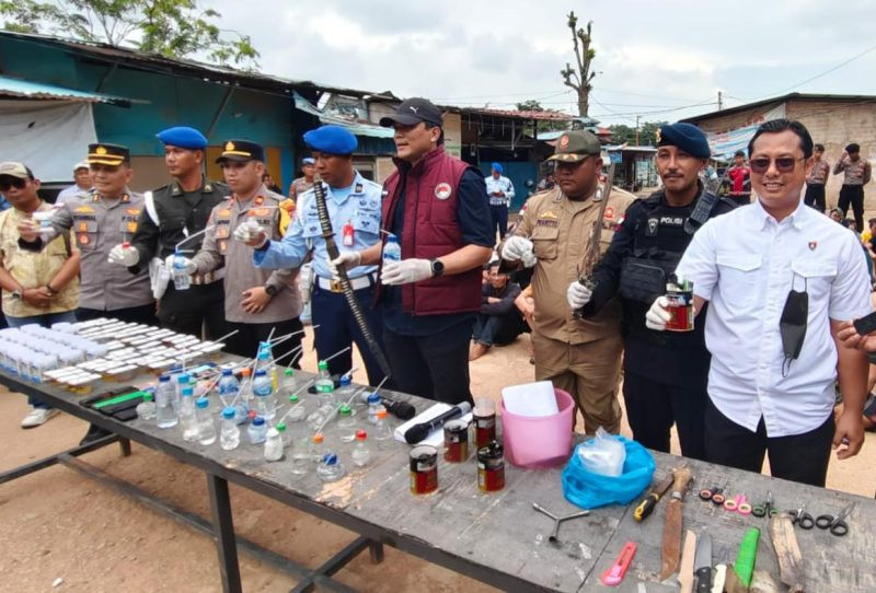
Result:
<instances>
[{"instance_id":1,"label":"black trousers of the officer in black tactical vest","mask_svg":"<svg viewBox=\"0 0 876 593\"><path fill-rule=\"evenodd\" d=\"M703 417L707 398L705 385L679 387L629 370L623 373L623 399L633 439L655 451L669 453L669 430L675 422L681 454L705 460Z\"/></svg>"}]
</instances>

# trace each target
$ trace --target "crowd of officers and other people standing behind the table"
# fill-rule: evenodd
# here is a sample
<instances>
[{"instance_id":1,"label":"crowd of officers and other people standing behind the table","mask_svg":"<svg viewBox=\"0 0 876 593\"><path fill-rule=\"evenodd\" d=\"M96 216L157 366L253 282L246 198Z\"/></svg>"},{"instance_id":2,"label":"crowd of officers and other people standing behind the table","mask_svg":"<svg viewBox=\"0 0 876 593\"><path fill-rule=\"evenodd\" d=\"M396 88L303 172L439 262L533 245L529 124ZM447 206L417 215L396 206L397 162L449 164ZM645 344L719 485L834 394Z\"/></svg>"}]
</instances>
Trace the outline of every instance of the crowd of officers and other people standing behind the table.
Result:
<instances>
[{"instance_id":1,"label":"crowd of officers and other people standing behind the table","mask_svg":"<svg viewBox=\"0 0 876 593\"><path fill-rule=\"evenodd\" d=\"M588 434L620 430L623 373L633 435L648 447L669 451L675 425L687 456L757 472L769 454L774 475L817 485L831 446L857 453L876 382L865 353L876 340L852 325L872 311L869 258L818 212L830 166L800 124L762 125L721 197L701 181L711 153L693 125L660 128L662 186L643 199L611 188L596 136L563 132L550 179L510 231L514 184L500 163L485 178L445 151L438 107L410 98L380 124L396 147L382 185L354 167L356 137L326 125L304 133L311 156L288 198L247 140L223 142L223 179L207 178L207 139L188 127L158 133L173 182L145 194L130 189L130 153L117 144L91 144L54 205L26 164L0 164L7 323L111 316L211 339L237 330L227 351L250 357L270 332L300 330L308 301L320 359L355 344L377 385L377 347L389 386L449 404L472 400L470 360L529 332L534 377L573 396ZM840 208L863 226L869 164L856 144L833 172L845 175ZM384 257L388 242L400 259ZM693 294L689 332L667 328L669 284ZM345 373L351 356L328 364ZM54 414L31 404L25 428Z\"/></svg>"}]
</instances>

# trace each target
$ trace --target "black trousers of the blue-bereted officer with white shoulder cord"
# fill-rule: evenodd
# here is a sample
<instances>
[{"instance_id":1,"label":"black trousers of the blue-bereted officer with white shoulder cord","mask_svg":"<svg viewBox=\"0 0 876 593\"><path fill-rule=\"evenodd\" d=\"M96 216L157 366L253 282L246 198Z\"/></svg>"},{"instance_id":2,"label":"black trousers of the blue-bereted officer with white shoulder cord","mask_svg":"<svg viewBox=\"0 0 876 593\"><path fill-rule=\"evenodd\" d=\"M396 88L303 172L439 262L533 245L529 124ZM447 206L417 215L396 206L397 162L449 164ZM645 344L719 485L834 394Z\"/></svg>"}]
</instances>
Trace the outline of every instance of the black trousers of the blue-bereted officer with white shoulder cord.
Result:
<instances>
[{"instance_id":1,"label":"black trousers of the blue-bereted officer with white shoulder cord","mask_svg":"<svg viewBox=\"0 0 876 593\"><path fill-rule=\"evenodd\" d=\"M161 298L158 319L161 327L180 334L200 338L206 326L208 339L221 338L231 332L226 322L226 291L222 281L192 284L188 290L176 290L171 282Z\"/></svg>"}]
</instances>

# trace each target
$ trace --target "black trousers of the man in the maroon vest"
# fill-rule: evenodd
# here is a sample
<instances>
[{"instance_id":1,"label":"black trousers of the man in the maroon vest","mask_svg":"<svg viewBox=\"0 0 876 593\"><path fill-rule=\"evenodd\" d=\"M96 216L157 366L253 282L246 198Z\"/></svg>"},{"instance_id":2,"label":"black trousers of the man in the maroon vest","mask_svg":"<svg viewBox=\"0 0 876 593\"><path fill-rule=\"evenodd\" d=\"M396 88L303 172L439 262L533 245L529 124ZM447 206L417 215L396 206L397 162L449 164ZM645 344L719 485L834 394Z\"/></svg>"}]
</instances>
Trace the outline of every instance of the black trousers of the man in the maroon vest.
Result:
<instances>
[{"instance_id":1,"label":"black trousers of the man in the maroon vest","mask_svg":"<svg viewBox=\"0 0 876 593\"><path fill-rule=\"evenodd\" d=\"M473 404L469 380L472 324L454 324L430 336L403 336L383 328L383 344L400 392L427 399Z\"/></svg>"}]
</instances>

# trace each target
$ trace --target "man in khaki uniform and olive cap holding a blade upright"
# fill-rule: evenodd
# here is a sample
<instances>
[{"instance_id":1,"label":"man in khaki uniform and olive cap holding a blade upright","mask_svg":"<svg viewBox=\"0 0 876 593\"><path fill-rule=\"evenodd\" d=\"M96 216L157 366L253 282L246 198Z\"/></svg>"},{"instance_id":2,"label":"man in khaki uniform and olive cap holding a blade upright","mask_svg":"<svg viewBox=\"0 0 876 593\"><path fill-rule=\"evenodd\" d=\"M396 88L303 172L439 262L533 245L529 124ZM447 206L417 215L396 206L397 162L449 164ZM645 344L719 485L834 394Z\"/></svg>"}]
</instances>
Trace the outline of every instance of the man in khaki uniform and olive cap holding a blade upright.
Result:
<instances>
[{"instance_id":1,"label":"man in khaki uniform and olive cap holding a blade upright","mask_svg":"<svg viewBox=\"0 0 876 593\"><path fill-rule=\"evenodd\" d=\"M585 130L565 132L550 160L556 162L556 186L530 198L514 234L500 246L500 254L503 259L534 266L531 286L535 302L535 379L550 380L575 398L588 434L600 426L616 433L621 421L616 396L623 349L620 305L612 301L598 315L584 321L575 317L566 301L569 284L581 274L602 200L598 187L602 168L599 139ZM608 249L614 228L623 221L634 199L631 194L612 189L599 221L601 253Z\"/></svg>"}]
</instances>

